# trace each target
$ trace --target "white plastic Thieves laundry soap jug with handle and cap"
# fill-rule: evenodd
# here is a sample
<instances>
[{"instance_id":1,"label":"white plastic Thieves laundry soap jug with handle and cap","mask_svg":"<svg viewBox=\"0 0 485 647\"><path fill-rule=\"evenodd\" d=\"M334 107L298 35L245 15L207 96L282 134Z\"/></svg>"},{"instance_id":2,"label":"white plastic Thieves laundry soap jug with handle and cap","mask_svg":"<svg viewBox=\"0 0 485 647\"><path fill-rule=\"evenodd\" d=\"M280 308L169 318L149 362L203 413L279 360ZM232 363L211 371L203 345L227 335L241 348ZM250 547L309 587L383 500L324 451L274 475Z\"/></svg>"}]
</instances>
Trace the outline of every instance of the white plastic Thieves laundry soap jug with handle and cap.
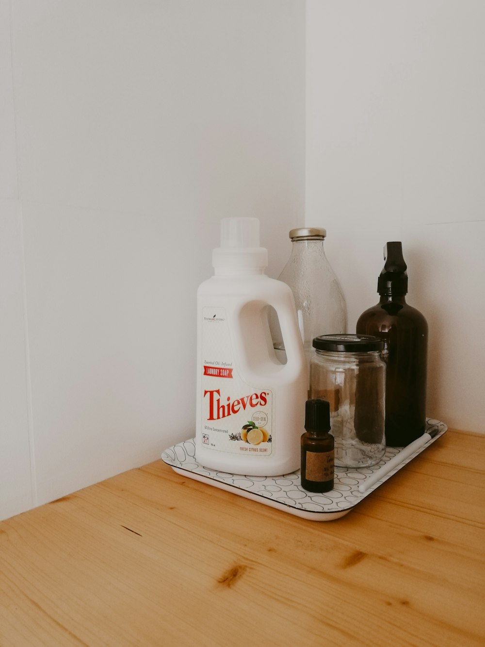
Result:
<instances>
[{"instance_id":1,"label":"white plastic Thieves laundry soap jug with handle and cap","mask_svg":"<svg viewBox=\"0 0 485 647\"><path fill-rule=\"evenodd\" d=\"M213 470L278 476L299 468L307 367L290 287L264 274L256 218L221 221L214 276L197 291L195 457ZM286 364L275 356L269 307Z\"/></svg>"}]
</instances>

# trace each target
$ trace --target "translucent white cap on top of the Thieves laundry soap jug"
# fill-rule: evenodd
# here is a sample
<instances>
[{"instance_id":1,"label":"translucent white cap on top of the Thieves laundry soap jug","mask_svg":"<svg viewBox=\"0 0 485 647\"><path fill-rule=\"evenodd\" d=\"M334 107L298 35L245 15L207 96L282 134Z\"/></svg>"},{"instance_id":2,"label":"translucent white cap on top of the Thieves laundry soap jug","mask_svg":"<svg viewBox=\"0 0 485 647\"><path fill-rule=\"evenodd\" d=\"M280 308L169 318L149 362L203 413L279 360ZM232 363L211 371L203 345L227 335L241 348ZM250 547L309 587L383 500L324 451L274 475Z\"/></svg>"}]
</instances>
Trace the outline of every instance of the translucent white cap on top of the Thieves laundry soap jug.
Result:
<instances>
[{"instance_id":1,"label":"translucent white cap on top of the Thieves laundry soap jug","mask_svg":"<svg viewBox=\"0 0 485 647\"><path fill-rule=\"evenodd\" d=\"M213 267L257 268L268 265L268 250L259 247L257 218L223 218L221 247L212 251Z\"/></svg>"}]
</instances>

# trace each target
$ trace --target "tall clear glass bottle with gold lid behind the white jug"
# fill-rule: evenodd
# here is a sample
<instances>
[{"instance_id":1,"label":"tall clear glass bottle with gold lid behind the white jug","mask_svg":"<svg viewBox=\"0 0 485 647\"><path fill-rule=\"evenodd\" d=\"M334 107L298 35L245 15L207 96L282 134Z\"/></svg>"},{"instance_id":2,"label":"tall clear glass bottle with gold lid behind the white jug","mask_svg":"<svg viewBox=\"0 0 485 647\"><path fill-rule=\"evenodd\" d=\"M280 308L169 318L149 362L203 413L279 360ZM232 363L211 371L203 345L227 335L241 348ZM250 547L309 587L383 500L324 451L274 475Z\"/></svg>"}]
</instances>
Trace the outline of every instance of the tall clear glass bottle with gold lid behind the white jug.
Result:
<instances>
[{"instance_id":1,"label":"tall clear glass bottle with gold lid behind the white jug","mask_svg":"<svg viewBox=\"0 0 485 647\"><path fill-rule=\"evenodd\" d=\"M323 228L292 229L292 252L278 279L293 292L308 367L312 340L321 334L347 332L347 305L338 279L325 256ZM285 363L285 346L277 320L271 319L276 355Z\"/></svg>"}]
</instances>

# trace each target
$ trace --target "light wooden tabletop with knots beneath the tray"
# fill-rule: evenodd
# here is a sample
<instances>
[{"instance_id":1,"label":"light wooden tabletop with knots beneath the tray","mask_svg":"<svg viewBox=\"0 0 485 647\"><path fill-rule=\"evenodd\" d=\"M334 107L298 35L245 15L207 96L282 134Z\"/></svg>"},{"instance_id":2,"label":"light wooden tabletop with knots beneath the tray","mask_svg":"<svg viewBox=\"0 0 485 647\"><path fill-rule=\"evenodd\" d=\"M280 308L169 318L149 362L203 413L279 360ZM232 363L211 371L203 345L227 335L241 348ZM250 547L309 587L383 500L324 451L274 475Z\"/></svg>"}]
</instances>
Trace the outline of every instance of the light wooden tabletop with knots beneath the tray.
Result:
<instances>
[{"instance_id":1,"label":"light wooden tabletop with knots beneath the tray","mask_svg":"<svg viewBox=\"0 0 485 647\"><path fill-rule=\"evenodd\" d=\"M485 644L485 436L306 521L156 461L0 523L0 644Z\"/></svg>"}]
</instances>

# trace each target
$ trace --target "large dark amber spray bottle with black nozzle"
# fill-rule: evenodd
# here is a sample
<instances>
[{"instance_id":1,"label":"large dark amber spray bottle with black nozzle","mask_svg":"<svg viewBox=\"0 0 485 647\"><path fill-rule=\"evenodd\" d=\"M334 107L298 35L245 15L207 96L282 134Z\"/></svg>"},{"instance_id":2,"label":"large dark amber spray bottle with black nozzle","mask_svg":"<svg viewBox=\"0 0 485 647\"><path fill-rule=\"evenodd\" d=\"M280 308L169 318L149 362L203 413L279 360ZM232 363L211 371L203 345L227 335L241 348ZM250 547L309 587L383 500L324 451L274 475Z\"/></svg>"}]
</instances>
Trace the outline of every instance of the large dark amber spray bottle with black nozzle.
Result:
<instances>
[{"instance_id":1,"label":"large dark amber spray bottle with black nozzle","mask_svg":"<svg viewBox=\"0 0 485 647\"><path fill-rule=\"evenodd\" d=\"M407 265L402 243L384 247L377 282L380 301L358 319L356 332L380 337L385 374L385 442L402 447L426 430L427 323L407 305Z\"/></svg>"}]
</instances>

